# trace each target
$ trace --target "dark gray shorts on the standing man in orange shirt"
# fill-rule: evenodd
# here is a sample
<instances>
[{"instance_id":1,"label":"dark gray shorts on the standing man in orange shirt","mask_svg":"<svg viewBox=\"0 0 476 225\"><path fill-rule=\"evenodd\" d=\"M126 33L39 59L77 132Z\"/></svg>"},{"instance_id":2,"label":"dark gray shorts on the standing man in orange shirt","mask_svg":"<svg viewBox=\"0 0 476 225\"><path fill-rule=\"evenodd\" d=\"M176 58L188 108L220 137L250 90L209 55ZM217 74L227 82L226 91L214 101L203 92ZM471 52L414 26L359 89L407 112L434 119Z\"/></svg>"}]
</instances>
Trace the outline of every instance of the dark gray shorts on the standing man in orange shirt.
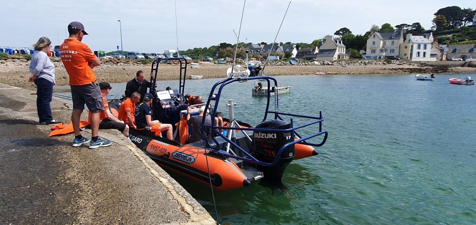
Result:
<instances>
[{"instance_id":1,"label":"dark gray shorts on the standing man in orange shirt","mask_svg":"<svg viewBox=\"0 0 476 225\"><path fill-rule=\"evenodd\" d=\"M96 82L90 85L70 86L73 98L73 109L84 109L84 104L92 113L100 112L104 108L103 96Z\"/></svg>"}]
</instances>

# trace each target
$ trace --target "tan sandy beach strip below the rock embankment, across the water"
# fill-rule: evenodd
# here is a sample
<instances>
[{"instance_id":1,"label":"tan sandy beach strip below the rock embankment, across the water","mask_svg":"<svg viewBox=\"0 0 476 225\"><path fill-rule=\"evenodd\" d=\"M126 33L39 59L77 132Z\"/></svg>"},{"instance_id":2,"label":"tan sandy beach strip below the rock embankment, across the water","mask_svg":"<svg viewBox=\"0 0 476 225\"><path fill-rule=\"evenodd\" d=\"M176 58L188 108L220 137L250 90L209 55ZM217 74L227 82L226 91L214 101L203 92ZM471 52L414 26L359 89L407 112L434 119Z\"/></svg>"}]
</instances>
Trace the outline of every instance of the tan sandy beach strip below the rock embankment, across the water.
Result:
<instances>
[{"instance_id":1,"label":"tan sandy beach strip below the rock embankment, across the water","mask_svg":"<svg viewBox=\"0 0 476 225\"><path fill-rule=\"evenodd\" d=\"M444 64L441 62L438 64ZM68 85L69 78L61 63L56 65L57 85ZM203 79L225 78L229 65L205 64L198 69L187 68L187 75L203 75ZM98 81L110 83L124 83L135 77L138 70L145 74L151 71L150 64L144 65L101 65L94 68ZM388 65L267 65L265 74L268 76L281 75L315 75L325 73L328 75L362 75L362 74L425 74L425 73L476 73L470 67L443 67L423 66L418 64L388 64ZM178 80L178 65L160 65L158 80ZM11 86L32 89L35 85L28 83L30 72L26 63L0 64L0 83Z\"/></svg>"}]
</instances>

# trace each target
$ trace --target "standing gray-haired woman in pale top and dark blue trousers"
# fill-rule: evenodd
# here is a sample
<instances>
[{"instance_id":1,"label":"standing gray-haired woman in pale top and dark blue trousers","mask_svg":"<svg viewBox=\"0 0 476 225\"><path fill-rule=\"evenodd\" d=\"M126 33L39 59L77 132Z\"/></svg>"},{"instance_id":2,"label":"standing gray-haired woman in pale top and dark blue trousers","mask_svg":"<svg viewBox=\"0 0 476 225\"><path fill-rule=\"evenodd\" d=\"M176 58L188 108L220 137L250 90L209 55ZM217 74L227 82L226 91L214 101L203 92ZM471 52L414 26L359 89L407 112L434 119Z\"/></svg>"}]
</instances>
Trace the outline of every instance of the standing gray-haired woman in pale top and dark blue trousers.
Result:
<instances>
[{"instance_id":1,"label":"standing gray-haired woman in pale top and dark blue trousers","mask_svg":"<svg viewBox=\"0 0 476 225\"><path fill-rule=\"evenodd\" d=\"M58 124L58 120L53 119L51 114L51 100L53 98L53 86L55 83L55 65L48 57L51 48L51 41L46 37L41 37L33 45L35 53L31 55L29 82L35 82L37 86L36 107L40 124Z\"/></svg>"}]
</instances>

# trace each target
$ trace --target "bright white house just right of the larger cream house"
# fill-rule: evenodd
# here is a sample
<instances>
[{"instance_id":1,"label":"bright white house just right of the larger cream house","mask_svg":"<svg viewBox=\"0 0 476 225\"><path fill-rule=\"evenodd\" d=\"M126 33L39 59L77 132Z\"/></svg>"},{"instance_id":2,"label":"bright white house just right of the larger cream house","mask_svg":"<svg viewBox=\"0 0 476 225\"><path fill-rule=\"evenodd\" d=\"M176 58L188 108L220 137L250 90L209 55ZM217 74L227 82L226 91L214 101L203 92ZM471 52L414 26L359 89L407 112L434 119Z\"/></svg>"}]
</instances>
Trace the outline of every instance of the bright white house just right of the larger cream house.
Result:
<instances>
[{"instance_id":1,"label":"bright white house just right of the larger cream house","mask_svg":"<svg viewBox=\"0 0 476 225\"><path fill-rule=\"evenodd\" d=\"M400 59L412 61L436 61L436 57L431 57L431 41L425 36L414 36L407 34L405 43L400 45Z\"/></svg>"}]
</instances>

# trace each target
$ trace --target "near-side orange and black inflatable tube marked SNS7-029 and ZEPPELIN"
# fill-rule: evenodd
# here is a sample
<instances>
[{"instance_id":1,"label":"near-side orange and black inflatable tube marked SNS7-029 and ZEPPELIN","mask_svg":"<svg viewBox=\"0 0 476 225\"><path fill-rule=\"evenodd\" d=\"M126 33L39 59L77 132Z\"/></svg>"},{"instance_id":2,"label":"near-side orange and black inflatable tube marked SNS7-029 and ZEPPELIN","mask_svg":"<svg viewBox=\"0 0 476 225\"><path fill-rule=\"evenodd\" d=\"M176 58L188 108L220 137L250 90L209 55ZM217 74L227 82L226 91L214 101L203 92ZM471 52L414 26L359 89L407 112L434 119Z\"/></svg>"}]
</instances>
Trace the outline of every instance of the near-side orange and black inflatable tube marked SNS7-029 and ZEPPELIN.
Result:
<instances>
[{"instance_id":1,"label":"near-side orange and black inflatable tube marked SNS7-029 and ZEPPELIN","mask_svg":"<svg viewBox=\"0 0 476 225\"><path fill-rule=\"evenodd\" d=\"M263 177L255 171L253 176L243 173L232 160L218 154L205 152L198 144L175 144L174 141L130 129L130 140L160 166L170 168L182 175L219 190L231 190L249 186ZM210 171L210 176L208 174Z\"/></svg>"}]
</instances>

